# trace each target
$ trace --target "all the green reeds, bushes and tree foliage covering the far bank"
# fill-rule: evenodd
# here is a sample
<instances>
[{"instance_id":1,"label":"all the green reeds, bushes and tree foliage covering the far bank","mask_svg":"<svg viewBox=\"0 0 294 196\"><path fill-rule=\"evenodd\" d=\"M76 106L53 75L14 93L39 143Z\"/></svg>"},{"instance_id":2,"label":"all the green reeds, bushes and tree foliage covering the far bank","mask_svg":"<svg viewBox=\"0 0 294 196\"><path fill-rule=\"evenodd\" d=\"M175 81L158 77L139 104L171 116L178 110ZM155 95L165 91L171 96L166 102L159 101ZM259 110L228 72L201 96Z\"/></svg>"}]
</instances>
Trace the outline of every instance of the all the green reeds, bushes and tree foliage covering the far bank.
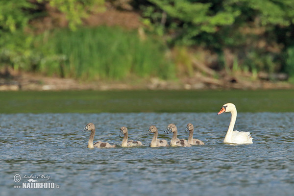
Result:
<instances>
[{"instance_id":1,"label":"all the green reeds, bushes and tree foliage covering the far bank","mask_svg":"<svg viewBox=\"0 0 294 196\"><path fill-rule=\"evenodd\" d=\"M107 0L115 4L116 0ZM143 23L169 46L196 46L219 54L224 69L294 75L293 0L140 0ZM0 0L0 68L38 71L76 78L115 78L175 75L167 61L164 41L140 40L121 29L78 29L90 13L101 11L105 0ZM41 5L41 6L40 6ZM46 13L45 5L63 13L69 30L35 36L29 21ZM43 7L44 10L40 9ZM122 6L121 6L121 9ZM39 13L41 12L41 13ZM72 32L76 31L76 32ZM112 32L114 31L114 32ZM224 61L224 50L233 62ZM286 51L286 57L282 56ZM182 69L193 74L185 52L178 50ZM182 52L182 53L181 53ZM170 58L171 59L171 58ZM281 63L280 59L285 59ZM154 63L156 62L156 64ZM229 70L228 70L229 71Z\"/></svg>"}]
</instances>

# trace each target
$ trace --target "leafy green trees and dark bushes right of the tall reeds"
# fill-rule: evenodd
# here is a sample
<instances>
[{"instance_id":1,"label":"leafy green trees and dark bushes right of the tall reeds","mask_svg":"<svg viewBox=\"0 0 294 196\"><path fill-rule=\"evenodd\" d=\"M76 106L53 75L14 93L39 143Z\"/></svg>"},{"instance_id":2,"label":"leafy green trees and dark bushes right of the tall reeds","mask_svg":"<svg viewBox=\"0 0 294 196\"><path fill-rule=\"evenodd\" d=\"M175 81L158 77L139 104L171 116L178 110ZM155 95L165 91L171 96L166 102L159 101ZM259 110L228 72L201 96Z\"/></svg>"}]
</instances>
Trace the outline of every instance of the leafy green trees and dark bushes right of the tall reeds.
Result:
<instances>
[{"instance_id":1,"label":"leafy green trees and dark bushes right of the tall reeds","mask_svg":"<svg viewBox=\"0 0 294 196\"><path fill-rule=\"evenodd\" d=\"M150 30L161 29L159 32L165 32L172 45L200 45L214 50L219 53L222 68L226 67L222 51L231 49L233 65L238 64L239 69L278 71L282 49L277 43L284 40L281 44L287 46L294 39L289 36L293 34L293 0L148 1L151 4L145 5L144 17Z\"/></svg>"}]
</instances>

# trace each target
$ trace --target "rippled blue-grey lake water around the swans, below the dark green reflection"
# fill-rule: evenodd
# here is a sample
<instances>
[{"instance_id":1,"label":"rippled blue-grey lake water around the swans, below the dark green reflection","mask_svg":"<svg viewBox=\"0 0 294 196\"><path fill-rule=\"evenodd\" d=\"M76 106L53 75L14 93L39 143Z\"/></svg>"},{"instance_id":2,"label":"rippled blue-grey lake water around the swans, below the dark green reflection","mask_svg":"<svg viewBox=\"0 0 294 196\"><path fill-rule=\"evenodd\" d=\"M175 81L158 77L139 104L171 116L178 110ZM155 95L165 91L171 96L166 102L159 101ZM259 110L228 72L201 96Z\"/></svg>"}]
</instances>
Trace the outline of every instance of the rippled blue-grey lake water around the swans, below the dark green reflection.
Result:
<instances>
[{"instance_id":1,"label":"rippled blue-grey lake water around the swans, below the dark green reflection","mask_svg":"<svg viewBox=\"0 0 294 196\"><path fill-rule=\"evenodd\" d=\"M230 114L215 113L100 113L0 114L0 195L98 196L289 196L294 193L294 113L238 113L235 130L250 131L251 145L222 143ZM129 139L145 146L88 149L95 123L94 142L121 144L120 127ZM159 138L169 123L178 138L187 139L187 123L194 138L205 146L148 147L155 124ZM14 181L15 174L21 176ZM54 183L55 189L15 188L30 178Z\"/></svg>"}]
</instances>

